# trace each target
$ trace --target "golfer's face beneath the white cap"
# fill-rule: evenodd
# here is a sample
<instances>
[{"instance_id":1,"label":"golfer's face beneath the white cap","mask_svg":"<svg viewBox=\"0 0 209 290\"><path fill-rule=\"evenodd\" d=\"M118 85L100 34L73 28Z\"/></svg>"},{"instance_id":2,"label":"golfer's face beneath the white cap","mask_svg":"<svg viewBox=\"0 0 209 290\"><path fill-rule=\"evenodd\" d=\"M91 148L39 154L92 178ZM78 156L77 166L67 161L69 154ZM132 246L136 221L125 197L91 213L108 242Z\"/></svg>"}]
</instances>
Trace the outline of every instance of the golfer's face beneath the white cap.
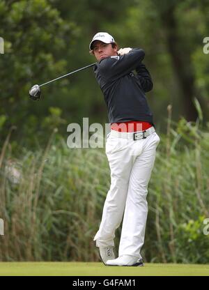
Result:
<instances>
[{"instance_id":1,"label":"golfer's face beneath the white cap","mask_svg":"<svg viewBox=\"0 0 209 290\"><path fill-rule=\"evenodd\" d=\"M98 61L109 56L117 55L117 50L118 47L111 47L111 43L102 43L102 41L95 41L93 43L93 53Z\"/></svg>"}]
</instances>

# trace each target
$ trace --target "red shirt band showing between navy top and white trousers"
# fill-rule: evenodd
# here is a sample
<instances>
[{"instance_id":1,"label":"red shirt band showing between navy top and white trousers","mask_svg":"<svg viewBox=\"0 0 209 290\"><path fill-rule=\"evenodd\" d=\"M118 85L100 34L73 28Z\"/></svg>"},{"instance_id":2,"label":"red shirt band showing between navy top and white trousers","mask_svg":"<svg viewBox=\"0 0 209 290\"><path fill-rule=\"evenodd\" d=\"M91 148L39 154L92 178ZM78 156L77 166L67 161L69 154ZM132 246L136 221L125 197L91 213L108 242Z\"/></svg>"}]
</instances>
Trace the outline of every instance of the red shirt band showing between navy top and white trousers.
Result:
<instances>
[{"instance_id":1,"label":"red shirt band showing between navy top and white trousers","mask_svg":"<svg viewBox=\"0 0 209 290\"><path fill-rule=\"evenodd\" d=\"M111 123L111 130L118 132L138 132L144 131L153 125L144 121L127 121L121 123Z\"/></svg>"}]
</instances>

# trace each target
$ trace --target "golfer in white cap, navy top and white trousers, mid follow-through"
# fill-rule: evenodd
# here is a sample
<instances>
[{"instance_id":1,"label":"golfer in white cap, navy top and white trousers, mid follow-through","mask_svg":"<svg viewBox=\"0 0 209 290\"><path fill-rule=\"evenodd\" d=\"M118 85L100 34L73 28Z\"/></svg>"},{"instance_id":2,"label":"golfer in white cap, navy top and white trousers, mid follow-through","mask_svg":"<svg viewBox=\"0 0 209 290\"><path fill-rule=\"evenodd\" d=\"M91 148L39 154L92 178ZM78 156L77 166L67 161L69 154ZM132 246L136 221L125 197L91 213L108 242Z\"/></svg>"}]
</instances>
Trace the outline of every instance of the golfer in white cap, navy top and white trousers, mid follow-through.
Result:
<instances>
[{"instance_id":1,"label":"golfer in white cap, navy top and white trousers, mid follow-through","mask_svg":"<svg viewBox=\"0 0 209 290\"><path fill-rule=\"evenodd\" d=\"M153 89L153 82L142 63L145 55L142 49L118 50L114 38L106 32L95 34L89 49L98 61L95 77L104 94L111 124L106 141L111 186L93 241L105 265L144 266L141 247L148 214L146 196L160 142L145 96ZM115 259L115 231L122 220Z\"/></svg>"}]
</instances>

